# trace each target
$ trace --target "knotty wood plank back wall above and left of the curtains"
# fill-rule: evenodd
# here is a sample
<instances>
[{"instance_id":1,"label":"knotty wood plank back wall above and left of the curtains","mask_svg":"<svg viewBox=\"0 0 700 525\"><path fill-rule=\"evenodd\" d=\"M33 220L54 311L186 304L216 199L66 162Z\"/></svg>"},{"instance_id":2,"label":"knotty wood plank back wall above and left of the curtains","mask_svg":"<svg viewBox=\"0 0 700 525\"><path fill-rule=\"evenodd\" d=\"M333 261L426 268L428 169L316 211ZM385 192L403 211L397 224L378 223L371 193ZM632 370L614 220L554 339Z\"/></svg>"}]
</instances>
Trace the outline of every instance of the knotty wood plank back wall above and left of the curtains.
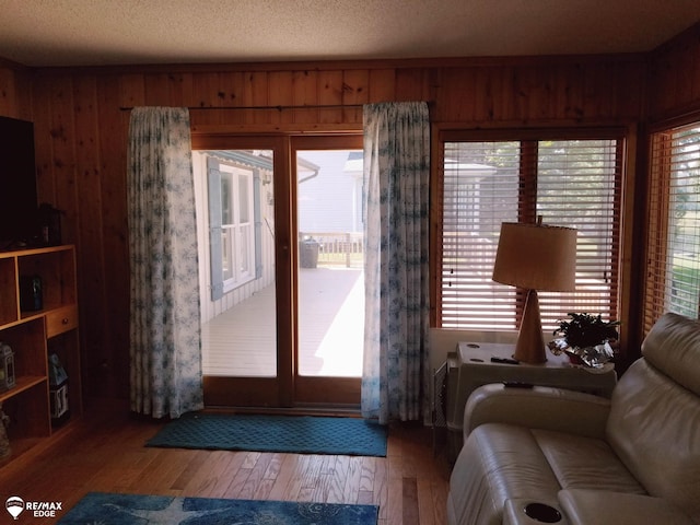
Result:
<instances>
[{"instance_id":1,"label":"knotty wood plank back wall above and left of the curtains","mask_svg":"<svg viewBox=\"0 0 700 525\"><path fill-rule=\"evenodd\" d=\"M438 127L629 125L644 114L645 79L646 57L637 55L36 71L0 62L0 114L35 121L40 200L65 210L63 240L78 247L86 394L125 398L129 114L121 107L422 100ZM338 130L360 129L362 114L192 109L191 120L196 131Z\"/></svg>"}]
</instances>

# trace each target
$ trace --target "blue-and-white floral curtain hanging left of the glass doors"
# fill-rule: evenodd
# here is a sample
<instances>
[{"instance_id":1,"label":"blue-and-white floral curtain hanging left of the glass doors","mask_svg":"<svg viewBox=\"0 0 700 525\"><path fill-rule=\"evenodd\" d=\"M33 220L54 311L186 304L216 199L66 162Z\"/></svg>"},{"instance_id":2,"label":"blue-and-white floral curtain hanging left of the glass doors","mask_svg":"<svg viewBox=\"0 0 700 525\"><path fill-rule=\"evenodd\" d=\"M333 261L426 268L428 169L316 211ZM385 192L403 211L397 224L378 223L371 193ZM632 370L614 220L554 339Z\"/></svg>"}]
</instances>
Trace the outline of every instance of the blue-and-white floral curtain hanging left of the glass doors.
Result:
<instances>
[{"instance_id":1,"label":"blue-and-white floral curtain hanging left of the glass doors","mask_svg":"<svg viewBox=\"0 0 700 525\"><path fill-rule=\"evenodd\" d=\"M189 112L131 112L128 153L131 409L203 408Z\"/></svg>"}]
</instances>

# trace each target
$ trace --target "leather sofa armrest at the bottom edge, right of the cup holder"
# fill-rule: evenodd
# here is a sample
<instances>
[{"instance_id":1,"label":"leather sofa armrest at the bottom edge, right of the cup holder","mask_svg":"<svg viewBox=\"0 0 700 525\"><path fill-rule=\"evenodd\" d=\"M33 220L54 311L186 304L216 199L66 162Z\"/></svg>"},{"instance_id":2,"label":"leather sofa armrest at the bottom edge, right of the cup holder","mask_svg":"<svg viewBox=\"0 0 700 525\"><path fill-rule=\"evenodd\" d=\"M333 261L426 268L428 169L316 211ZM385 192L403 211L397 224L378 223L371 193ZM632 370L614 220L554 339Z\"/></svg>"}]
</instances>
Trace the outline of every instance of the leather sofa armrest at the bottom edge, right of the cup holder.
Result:
<instances>
[{"instance_id":1,"label":"leather sofa armrest at the bottom edge, right of the cup holder","mask_svg":"<svg viewBox=\"0 0 700 525\"><path fill-rule=\"evenodd\" d=\"M670 502L652 495L592 489L560 490L559 504L570 525L639 525L673 523L692 525L692 521Z\"/></svg>"}]
</instances>

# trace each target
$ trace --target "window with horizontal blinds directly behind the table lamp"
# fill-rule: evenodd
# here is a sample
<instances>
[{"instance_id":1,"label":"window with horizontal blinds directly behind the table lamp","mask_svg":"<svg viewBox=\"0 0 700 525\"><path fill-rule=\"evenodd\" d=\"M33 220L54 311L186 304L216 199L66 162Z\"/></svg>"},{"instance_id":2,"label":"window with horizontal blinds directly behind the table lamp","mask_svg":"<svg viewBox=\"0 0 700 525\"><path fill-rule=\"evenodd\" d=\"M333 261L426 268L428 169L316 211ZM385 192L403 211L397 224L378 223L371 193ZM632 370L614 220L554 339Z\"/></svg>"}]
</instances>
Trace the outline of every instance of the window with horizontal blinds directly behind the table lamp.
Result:
<instances>
[{"instance_id":1,"label":"window with horizontal blinds directly behind the table lamp","mask_svg":"<svg viewBox=\"0 0 700 525\"><path fill-rule=\"evenodd\" d=\"M569 312L617 318L620 139L444 141L439 326L513 330L525 291L493 282L502 222L578 230L576 291L539 292L542 329ZM523 254L545 257L546 254Z\"/></svg>"}]
</instances>

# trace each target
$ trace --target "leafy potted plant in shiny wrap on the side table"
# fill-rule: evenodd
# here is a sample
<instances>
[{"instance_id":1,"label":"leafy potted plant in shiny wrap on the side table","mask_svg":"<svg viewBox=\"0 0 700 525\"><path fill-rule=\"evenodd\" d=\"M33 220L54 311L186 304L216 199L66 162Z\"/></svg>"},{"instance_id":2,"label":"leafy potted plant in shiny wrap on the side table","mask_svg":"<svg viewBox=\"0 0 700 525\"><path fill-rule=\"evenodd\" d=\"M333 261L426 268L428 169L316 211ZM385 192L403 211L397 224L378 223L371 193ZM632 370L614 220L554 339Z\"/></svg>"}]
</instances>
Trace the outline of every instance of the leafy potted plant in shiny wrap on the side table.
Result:
<instances>
[{"instance_id":1,"label":"leafy potted plant in shiny wrap on the side table","mask_svg":"<svg viewBox=\"0 0 700 525\"><path fill-rule=\"evenodd\" d=\"M553 331L560 338L549 343L553 353L567 352L572 362L592 368L602 368L615 357L610 342L617 341L619 320L606 322L600 314L586 313L570 313L569 317Z\"/></svg>"}]
</instances>

